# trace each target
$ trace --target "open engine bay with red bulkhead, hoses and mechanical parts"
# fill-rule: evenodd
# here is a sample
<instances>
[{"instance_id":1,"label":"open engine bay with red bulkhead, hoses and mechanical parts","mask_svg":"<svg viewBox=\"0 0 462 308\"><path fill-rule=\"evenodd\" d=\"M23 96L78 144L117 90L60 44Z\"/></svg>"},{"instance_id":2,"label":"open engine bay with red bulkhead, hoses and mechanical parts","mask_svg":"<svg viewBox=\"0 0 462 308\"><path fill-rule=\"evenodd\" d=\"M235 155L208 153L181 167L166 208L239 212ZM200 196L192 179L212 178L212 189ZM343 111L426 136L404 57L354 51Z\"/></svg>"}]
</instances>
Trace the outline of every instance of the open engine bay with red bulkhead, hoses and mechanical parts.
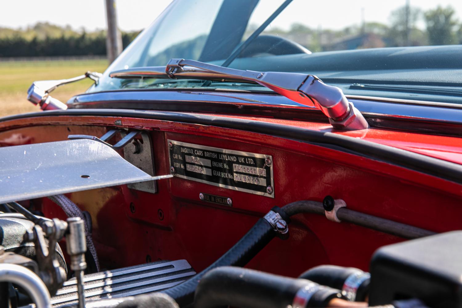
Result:
<instances>
[{"instance_id":1,"label":"open engine bay with red bulkhead, hoses and mechanical parts","mask_svg":"<svg viewBox=\"0 0 462 308\"><path fill-rule=\"evenodd\" d=\"M2 256L15 257L0 260L35 272L53 307L79 297L80 307L458 307L448 286L460 284L459 270L438 251L460 237L444 233L460 229L459 184L237 128L109 116L10 122L0 140L20 141L0 151L17 162L40 151L15 167L28 180L14 183L22 194L0 196ZM426 292L431 281L441 283ZM33 302L22 285L1 289L11 307ZM446 306L433 300L441 296Z\"/></svg>"}]
</instances>

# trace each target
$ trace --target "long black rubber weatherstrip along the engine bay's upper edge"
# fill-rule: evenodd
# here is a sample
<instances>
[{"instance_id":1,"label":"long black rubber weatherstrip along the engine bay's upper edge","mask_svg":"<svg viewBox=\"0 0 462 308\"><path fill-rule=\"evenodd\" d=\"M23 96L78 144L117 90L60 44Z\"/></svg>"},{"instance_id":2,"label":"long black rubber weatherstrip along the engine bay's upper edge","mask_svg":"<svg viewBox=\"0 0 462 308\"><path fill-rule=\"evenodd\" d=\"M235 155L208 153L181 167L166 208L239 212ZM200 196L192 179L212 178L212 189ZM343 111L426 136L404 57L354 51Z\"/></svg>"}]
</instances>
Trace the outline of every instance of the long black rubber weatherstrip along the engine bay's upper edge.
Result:
<instances>
[{"instance_id":1,"label":"long black rubber weatherstrip along the engine bay's upper edge","mask_svg":"<svg viewBox=\"0 0 462 308\"><path fill-rule=\"evenodd\" d=\"M154 119L262 133L275 137L322 145L328 148L335 148L338 151L345 151L359 156L373 158L375 160L391 163L462 184L462 165L456 163L336 133L319 132L304 129L303 127L293 127L250 119L133 109L67 109L11 115L1 118L0 122L30 117L59 115L121 117L122 124L124 117Z\"/></svg>"}]
</instances>

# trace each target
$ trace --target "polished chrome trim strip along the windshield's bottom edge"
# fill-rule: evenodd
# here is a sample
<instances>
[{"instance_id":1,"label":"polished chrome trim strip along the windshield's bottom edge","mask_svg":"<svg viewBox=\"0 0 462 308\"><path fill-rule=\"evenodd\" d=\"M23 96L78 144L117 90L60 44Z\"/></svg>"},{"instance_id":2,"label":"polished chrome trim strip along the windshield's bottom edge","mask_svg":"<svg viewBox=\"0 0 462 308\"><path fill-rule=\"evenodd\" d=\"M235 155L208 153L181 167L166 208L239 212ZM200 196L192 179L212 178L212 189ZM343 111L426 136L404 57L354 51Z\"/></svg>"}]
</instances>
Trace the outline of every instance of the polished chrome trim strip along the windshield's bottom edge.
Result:
<instances>
[{"instance_id":1,"label":"polished chrome trim strip along the windshield's bottom edge","mask_svg":"<svg viewBox=\"0 0 462 308\"><path fill-rule=\"evenodd\" d=\"M443 121L462 124L462 105L451 103L432 103L382 97L346 96L364 115L407 118L414 120ZM101 108L100 102L184 102L184 103L226 103L242 105L267 105L293 107L294 109L313 109L295 103L274 93L245 93L222 91L107 91L86 93L72 97L68 102L71 109ZM92 107L92 106L95 107ZM120 105L114 108L121 108ZM130 108L130 107L127 107Z\"/></svg>"}]
</instances>

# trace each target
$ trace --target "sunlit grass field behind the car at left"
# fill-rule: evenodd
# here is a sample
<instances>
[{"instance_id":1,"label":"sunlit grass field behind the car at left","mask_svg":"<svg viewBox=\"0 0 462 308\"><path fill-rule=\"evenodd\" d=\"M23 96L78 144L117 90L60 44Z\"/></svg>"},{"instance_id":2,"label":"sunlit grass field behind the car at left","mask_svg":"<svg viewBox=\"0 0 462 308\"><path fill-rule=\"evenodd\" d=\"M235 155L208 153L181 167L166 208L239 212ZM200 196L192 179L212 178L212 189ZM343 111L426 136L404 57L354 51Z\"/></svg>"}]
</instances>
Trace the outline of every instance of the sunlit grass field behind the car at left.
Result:
<instances>
[{"instance_id":1,"label":"sunlit grass field behind the car at left","mask_svg":"<svg viewBox=\"0 0 462 308\"><path fill-rule=\"evenodd\" d=\"M36 80L67 79L86 71L103 72L107 65L107 60L0 62L0 116L40 110L27 101L27 89ZM63 85L51 95L66 103L91 83L92 80L85 79Z\"/></svg>"}]
</instances>

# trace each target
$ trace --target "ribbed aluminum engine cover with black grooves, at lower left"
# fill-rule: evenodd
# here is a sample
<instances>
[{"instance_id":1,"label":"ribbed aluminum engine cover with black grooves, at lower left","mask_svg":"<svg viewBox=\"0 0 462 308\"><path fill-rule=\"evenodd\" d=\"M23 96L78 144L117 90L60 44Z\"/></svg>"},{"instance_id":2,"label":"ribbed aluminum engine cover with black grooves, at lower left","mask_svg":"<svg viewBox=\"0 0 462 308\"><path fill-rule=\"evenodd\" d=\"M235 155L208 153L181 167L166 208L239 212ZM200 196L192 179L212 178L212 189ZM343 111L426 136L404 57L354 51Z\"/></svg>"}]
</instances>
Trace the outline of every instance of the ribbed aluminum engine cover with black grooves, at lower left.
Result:
<instances>
[{"instance_id":1,"label":"ribbed aluminum engine cover with black grooves, at lower left","mask_svg":"<svg viewBox=\"0 0 462 308\"><path fill-rule=\"evenodd\" d=\"M159 261L116 270L85 275L85 298L94 301L102 298L133 296L173 287L195 275L186 260ZM77 302L76 279L69 279L51 298L53 307Z\"/></svg>"}]
</instances>

